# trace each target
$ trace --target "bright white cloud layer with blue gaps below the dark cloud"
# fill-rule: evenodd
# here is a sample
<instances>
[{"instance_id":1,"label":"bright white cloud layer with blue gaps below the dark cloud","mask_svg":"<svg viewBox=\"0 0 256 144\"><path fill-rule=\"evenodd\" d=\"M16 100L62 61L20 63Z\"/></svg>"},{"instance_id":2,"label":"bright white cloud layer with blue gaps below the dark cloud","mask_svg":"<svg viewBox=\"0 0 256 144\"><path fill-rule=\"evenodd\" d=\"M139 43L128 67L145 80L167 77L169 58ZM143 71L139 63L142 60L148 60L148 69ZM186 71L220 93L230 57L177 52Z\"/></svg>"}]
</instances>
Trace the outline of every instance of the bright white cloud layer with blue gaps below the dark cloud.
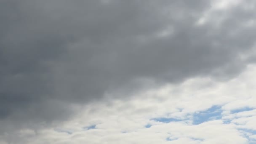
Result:
<instances>
[{"instance_id":1,"label":"bright white cloud layer with blue gaps below the dark cloud","mask_svg":"<svg viewBox=\"0 0 256 144\"><path fill-rule=\"evenodd\" d=\"M71 120L36 132L23 129L15 135L23 141L9 141L18 144L253 144L255 108L234 113L232 109L238 109L240 105L233 105L232 109L227 109L227 106L234 101L248 99L246 93L255 93L255 88L251 87L255 85L255 72L256 66L251 65L239 77L227 82L197 77L179 85L169 84L137 93L129 100L112 99L85 104ZM248 85L243 87L244 84ZM164 100L157 102L155 99ZM254 103L255 99L251 101ZM155 120L154 117L166 118ZM195 121L198 117L200 121ZM180 120L171 120L174 118ZM2 139L8 139L8 135Z\"/></svg>"}]
</instances>

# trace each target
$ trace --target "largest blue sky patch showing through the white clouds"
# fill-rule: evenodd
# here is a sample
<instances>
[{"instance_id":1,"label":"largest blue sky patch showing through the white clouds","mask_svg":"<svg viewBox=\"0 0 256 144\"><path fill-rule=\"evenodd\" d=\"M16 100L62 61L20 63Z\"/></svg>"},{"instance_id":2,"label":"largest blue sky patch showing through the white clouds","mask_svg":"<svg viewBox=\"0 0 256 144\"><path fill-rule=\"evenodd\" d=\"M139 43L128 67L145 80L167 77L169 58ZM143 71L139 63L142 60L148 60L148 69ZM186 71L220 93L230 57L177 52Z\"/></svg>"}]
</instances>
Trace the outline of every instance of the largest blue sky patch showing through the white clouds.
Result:
<instances>
[{"instance_id":1,"label":"largest blue sky patch showing through the white clouds","mask_svg":"<svg viewBox=\"0 0 256 144\"><path fill-rule=\"evenodd\" d=\"M209 120L219 120L221 119L222 109L221 106L213 106L205 111L195 113L193 115L193 124L198 125Z\"/></svg>"}]
</instances>

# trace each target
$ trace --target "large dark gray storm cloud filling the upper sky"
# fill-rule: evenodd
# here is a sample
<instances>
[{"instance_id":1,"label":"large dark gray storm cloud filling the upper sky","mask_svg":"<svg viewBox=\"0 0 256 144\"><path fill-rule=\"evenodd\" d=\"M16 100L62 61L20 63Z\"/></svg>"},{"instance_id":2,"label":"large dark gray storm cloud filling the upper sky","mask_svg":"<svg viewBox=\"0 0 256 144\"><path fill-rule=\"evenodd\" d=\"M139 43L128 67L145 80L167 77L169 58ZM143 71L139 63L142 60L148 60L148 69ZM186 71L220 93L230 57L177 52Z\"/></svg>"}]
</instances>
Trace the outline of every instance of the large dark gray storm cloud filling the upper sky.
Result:
<instances>
[{"instance_id":1,"label":"large dark gray storm cloud filling the upper sky","mask_svg":"<svg viewBox=\"0 0 256 144\"><path fill-rule=\"evenodd\" d=\"M64 120L70 103L133 91L143 80L239 73L256 35L245 26L253 9L216 10L197 25L210 8L205 0L2 0L1 130Z\"/></svg>"}]
</instances>

